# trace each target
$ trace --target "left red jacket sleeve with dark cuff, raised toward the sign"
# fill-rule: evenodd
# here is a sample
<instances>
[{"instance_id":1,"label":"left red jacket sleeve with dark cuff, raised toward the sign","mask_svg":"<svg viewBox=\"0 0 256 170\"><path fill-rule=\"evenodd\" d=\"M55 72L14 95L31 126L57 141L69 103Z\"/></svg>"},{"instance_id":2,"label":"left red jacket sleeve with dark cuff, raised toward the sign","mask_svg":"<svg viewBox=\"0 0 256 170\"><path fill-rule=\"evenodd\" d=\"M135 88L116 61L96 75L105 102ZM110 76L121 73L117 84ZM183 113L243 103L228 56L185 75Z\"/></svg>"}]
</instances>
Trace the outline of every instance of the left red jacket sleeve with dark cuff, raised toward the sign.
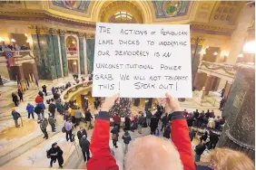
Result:
<instances>
[{"instance_id":1,"label":"left red jacket sleeve with dark cuff, raised toward the sign","mask_svg":"<svg viewBox=\"0 0 256 170\"><path fill-rule=\"evenodd\" d=\"M107 112L100 112L94 125L90 150L92 158L87 162L88 170L118 170L109 147L110 122Z\"/></svg>"}]
</instances>

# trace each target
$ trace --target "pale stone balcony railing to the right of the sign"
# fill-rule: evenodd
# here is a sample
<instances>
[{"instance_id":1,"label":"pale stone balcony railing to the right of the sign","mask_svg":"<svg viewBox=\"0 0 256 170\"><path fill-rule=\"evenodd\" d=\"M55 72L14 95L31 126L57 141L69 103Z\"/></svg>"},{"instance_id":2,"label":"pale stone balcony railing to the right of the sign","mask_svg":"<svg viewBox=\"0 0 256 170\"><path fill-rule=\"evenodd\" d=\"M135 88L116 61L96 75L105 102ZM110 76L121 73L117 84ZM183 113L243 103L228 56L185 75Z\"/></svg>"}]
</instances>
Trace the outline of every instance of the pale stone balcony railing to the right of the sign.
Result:
<instances>
[{"instance_id":1,"label":"pale stone balcony railing to the right of the sign","mask_svg":"<svg viewBox=\"0 0 256 170\"><path fill-rule=\"evenodd\" d=\"M216 77L233 79L236 70L234 65L227 63L201 61L198 66L198 71L212 74Z\"/></svg>"}]
</instances>

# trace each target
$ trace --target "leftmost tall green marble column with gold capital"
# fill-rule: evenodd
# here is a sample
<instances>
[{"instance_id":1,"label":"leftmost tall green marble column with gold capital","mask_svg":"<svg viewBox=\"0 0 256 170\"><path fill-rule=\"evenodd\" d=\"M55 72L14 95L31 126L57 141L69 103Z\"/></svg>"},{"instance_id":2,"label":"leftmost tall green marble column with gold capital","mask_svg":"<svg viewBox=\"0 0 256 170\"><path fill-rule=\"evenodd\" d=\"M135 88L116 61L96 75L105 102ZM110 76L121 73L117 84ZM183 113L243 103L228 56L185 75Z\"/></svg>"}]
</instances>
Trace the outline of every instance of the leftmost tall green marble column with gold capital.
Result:
<instances>
[{"instance_id":1,"label":"leftmost tall green marble column with gold capital","mask_svg":"<svg viewBox=\"0 0 256 170\"><path fill-rule=\"evenodd\" d=\"M28 26L31 32L31 37L33 41L33 49L34 49L34 58L35 58L35 65L37 70L37 75L34 75L35 79L46 80L46 73L45 73L45 63L41 55L41 46L39 43L39 36L38 32L39 29L35 25Z\"/></svg>"}]
</instances>

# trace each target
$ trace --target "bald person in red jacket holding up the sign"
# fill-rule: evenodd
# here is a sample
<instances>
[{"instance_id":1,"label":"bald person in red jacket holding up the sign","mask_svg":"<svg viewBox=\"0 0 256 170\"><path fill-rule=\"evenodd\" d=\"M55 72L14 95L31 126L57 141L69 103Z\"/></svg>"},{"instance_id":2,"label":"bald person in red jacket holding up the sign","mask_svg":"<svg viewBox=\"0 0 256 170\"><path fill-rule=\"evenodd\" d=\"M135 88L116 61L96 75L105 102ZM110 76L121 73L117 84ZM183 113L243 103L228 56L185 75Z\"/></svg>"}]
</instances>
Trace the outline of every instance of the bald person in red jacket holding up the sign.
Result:
<instances>
[{"instance_id":1,"label":"bald person in red jacket holding up the sign","mask_svg":"<svg viewBox=\"0 0 256 170\"><path fill-rule=\"evenodd\" d=\"M136 138L133 141L133 147L129 147L125 156L124 167L126 170L195 170L189 128L182 116L182 109L172 96L167 94L166 97L167 99L162 99L162 102L167 102L165 110L172 110L172 142L154 136ZM99 112L94 125L90 145L93 156L86 164L87 170L119 169L110 152L110 115L108 112L118 98L119 95L114 95L112 98L104 100L102 111ZM163 147L166 148L163 149L164 152L162 152ZM149 161L148 156L154 156L153 161Z\"/></svg>"}]
</instances>

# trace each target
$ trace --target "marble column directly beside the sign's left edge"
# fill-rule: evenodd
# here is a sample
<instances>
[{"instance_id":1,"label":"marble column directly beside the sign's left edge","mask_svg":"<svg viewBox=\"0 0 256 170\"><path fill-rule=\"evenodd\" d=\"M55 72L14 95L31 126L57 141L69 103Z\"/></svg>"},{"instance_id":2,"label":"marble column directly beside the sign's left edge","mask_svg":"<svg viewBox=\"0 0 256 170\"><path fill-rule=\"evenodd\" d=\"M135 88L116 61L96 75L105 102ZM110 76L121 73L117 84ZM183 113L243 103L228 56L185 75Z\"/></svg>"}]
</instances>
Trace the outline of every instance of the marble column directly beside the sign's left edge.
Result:
<instances>
[{"instance_id":1,"label":"marble column directly beside the sign's left edge","mask_svg":"<svg viewBox=\"0 0 256 170\"><path fill-rule=\"evenodd\" d=\"M88 73L92 73L94 71L94 46L94 34L86 33L86 54Z\"/></svg>"}]
</instances>

